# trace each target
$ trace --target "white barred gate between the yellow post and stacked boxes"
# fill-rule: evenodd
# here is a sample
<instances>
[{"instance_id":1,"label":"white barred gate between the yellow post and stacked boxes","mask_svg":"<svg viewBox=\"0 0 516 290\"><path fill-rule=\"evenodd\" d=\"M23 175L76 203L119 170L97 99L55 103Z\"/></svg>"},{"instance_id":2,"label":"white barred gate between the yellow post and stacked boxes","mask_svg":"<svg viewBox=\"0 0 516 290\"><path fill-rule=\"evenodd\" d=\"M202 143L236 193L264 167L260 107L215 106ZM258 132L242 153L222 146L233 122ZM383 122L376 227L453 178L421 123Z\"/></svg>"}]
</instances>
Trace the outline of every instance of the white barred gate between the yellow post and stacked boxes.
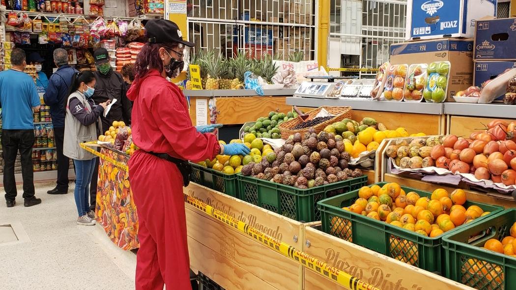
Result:
<instances>
[{"instance_id":1,"label":"white barred gate between the yellow post and stacked boxes","mask_svg":"<svg viewBox=\"0 0 516 290\"><path fill-rule=\"evenodd\" d=\"M406 13L406 0L331 0L328 67L378 68L405 40Z\"/></svg>"}]
</instances>

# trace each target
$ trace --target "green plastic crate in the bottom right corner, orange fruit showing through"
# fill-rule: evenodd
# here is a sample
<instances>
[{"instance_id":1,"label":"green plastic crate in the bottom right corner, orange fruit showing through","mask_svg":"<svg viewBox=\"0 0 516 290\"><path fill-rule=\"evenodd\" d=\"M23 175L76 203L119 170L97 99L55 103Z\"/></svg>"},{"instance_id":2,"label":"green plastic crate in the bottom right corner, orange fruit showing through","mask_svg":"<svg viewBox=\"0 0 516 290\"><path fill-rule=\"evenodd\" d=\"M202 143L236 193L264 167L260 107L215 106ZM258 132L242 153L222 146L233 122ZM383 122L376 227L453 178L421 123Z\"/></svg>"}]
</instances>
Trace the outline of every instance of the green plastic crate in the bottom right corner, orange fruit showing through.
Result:
<instances>
[{"instance_id":1,"label":"green plastic crate in the bottom right corner, orange fruit showing through","mask_svg":"<svg viewBox=\"0 0 516 290\"><path fill-rule=\"evenodd\" d=\"M516 208L445 235L446 278L480 290L516 289L516 258L481 248L490 238L508 236L514 222Z\"/></svg>"}]
</instances>

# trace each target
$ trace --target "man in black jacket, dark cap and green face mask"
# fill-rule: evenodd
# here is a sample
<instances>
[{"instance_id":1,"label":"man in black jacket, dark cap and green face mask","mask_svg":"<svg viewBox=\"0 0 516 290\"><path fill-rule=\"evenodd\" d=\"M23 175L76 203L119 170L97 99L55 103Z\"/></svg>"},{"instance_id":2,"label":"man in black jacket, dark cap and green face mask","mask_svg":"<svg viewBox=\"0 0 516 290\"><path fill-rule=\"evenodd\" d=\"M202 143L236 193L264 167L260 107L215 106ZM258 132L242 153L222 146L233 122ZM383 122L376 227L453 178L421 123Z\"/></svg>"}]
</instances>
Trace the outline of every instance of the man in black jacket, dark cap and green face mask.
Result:
<instances>
[{"instance_id":1,"label":"man in black jacket, dark cap and green face mask","mask_svg":"<svg viewBox=\"0 0 516 290\"><path fill-rule=\"evenodd\" d=\"M109 54L106 49L100 48L93 53L95 59L96 72L95 75L95 92L92 99L96 104L106 101L113 103L106 117L101 115L103 133L109 130L114 121L124 121L126 125L131 124L131 110L133 106L131 101L127 99L127 89L122 75L113 70L109 61ZM96 190L99 175L99 159L96 159L96 165L93 170L93 176L90 184L90 204L91 210L94 211L96 204Z\"/></svg>"}]
</instances>

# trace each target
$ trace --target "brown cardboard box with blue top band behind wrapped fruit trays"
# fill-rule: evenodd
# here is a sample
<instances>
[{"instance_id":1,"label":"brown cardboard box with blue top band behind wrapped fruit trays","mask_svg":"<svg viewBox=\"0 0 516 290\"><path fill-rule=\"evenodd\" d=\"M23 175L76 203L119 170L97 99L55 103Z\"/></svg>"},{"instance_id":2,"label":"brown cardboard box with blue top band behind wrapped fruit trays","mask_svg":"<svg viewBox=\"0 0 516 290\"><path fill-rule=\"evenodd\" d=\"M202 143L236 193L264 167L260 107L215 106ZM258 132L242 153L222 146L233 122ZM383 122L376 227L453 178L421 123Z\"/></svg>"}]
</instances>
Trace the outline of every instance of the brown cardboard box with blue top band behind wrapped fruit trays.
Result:
<instances>
[{"instance_id":1,"label":"brown cardboard box with blue top band behind wrapped fruit trays","mask_svg":"<svg viewBox=\"0 0 516 290\"><path fill-rule=\"evenodd\" d=\"M391 64L450 62L447 101L473 84L473 41L467 39L425 40L391 45Z\"/></svg>"}]
</instances>

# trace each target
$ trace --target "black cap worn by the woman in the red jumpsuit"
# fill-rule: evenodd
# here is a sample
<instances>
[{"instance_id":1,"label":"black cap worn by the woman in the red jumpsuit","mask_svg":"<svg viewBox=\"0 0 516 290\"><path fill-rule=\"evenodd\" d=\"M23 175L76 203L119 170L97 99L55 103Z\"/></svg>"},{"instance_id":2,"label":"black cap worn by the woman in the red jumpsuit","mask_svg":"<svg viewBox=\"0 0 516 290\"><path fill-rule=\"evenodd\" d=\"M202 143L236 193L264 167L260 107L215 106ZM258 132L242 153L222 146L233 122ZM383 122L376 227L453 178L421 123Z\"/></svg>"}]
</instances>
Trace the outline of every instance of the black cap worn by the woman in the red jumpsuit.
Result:
<instances>
[{"instance_id":1,"label":"black cap worn by the woman in the red jumpsuit","mask_svg":"<svg viewBox=\"0 0 516 290\"><path fill-rule=\"evenodd\" d=\"M170 20L153 19L145 25L149 43L183 43L193 47L193 42L183 40L183 34L177 24Z\"/></svg>"}]
</instances>

